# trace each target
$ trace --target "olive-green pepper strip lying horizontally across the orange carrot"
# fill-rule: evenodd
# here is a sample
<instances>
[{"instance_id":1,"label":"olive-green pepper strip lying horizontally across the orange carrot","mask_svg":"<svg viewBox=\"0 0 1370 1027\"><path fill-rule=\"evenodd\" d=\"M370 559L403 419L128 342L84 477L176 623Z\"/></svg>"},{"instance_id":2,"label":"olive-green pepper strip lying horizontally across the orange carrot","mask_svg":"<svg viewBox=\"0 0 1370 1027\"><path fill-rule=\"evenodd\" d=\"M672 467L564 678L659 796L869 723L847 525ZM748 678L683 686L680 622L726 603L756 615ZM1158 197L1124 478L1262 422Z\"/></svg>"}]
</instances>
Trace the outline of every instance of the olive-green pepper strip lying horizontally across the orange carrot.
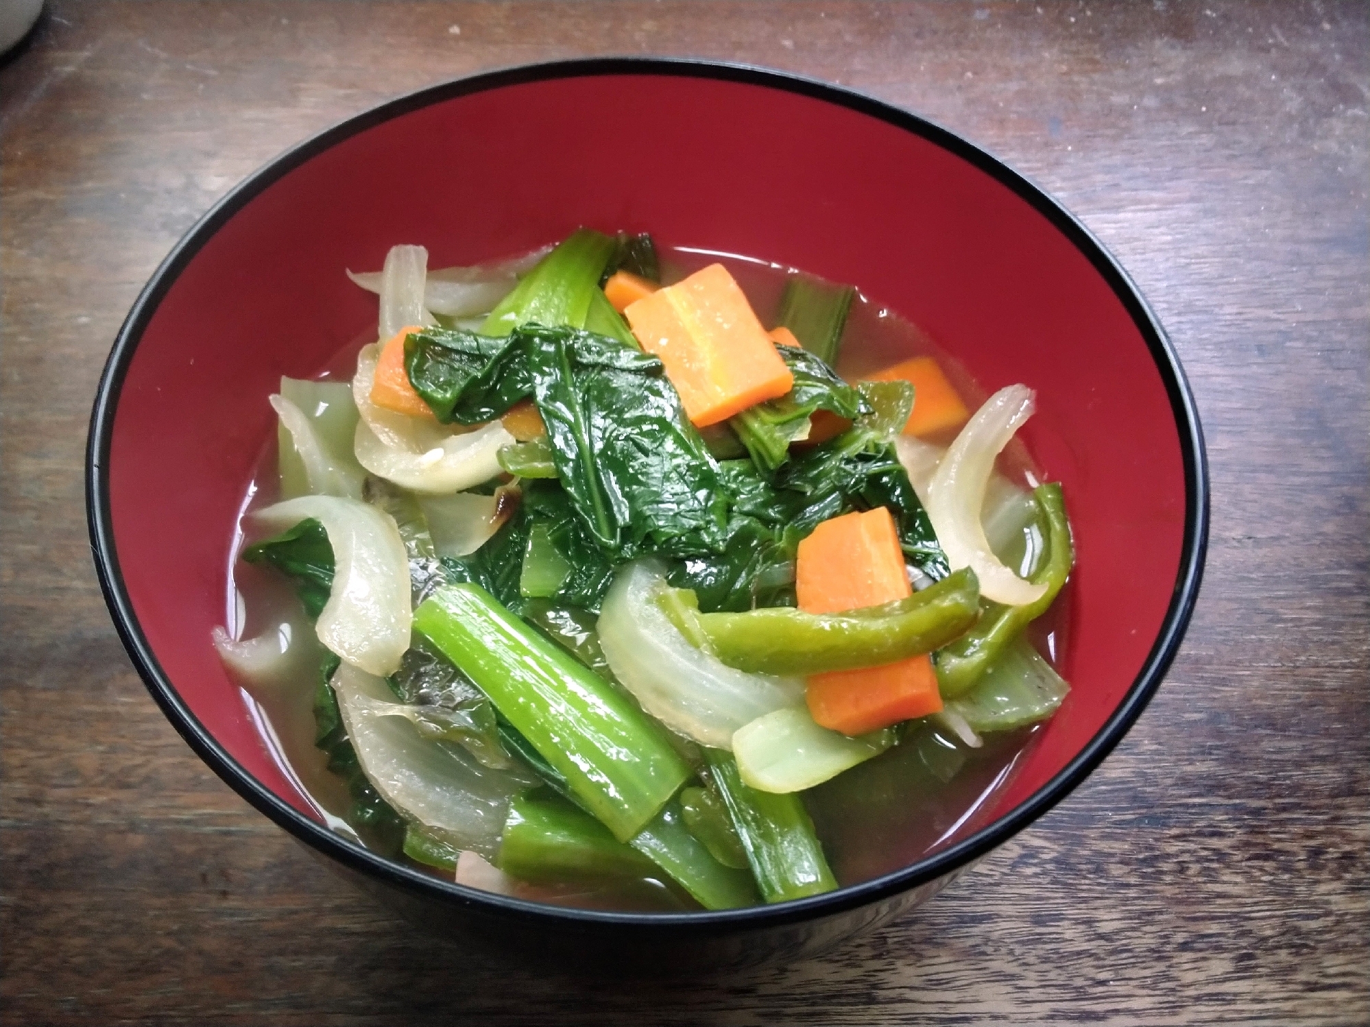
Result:
<instances>
[{"instance_id":1,"label":"olive-green pepper strip lying horizontally across the orange carrot","mask_svg":"<svg viewBox=\"0 0 1370 1027\"><path fill-rule=\"evenodd\" d=\"M689 619L688 612L685 604L667 609L667 615L682 619ZM697 613L693 620L707 639L701 648L729 667L751 674L811 675L878 667L932 652L964 633L977 616L980 583L966 567L881 607L845 613L771 607L745 613Z\"/></svg>"}]
</instances>

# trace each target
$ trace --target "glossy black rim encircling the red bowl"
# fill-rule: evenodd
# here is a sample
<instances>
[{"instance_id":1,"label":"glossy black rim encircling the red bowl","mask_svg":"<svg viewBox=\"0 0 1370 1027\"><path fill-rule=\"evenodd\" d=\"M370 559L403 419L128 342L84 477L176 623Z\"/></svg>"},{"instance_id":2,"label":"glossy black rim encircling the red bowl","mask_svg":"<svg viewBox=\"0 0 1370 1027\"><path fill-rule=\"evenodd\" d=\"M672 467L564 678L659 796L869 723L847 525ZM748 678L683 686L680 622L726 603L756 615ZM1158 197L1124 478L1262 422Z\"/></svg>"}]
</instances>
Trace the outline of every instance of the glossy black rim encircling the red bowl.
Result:
<instances>
[{"instance_id":1,"label":"glossy black rim encircling the red bowl","mask_svg":"<svg viewBox=\"0 0 1370 1027\"><path fill-rule=\"evenodd\" d=\"M489 89L592 75L708 78L780 89L849 108L941 147L1006 185L1044 215L1074 244L1095 270L1103 275L1104 281L1108 282L1115 296L1126 308L1133 323L1147 341L1156 370L1164 382L1175 418L1175 430L1184 461L1185 530L1180 570L1175 576L1170 607L1166 611L1160 631L1140 674L1122 702L1095 737L1089 739L1060 772L1029 796L1026 801L1006 815L996 817L991 824L969 838L903 870L811 898L792 900L775 905L748 906L744 909L686 913L627 913L574 909L510 898L507 896L470 889L455 882L445 882L392 863L344 839L341 835L297 812L258 782L215 741L212 734L190 712L158 663L134 615L133 604L119 571L110 511L108 457L115 412L123 378L142 333L152 320L160 300L200 248L238 210L286 173L329 147L381 122L422 107ZM215 203L177 242L158 267L134 301L115 338L110 359L100 378L90 415L90 434L86 446L86 519L90 529L96 572L100 578L100 587L104 592L115 629L134 667L152 693L153 700L162 707L167 719L171 720L173 726L200 759L223 778L234 791L293 837L356 871L408 891L416 891L429 898L440 898L452 905L485 908L497 915L525 922L545 923L547 919L552 919L562 922L566 927L574 926L581 930L612 927L618 931L655 933L670 930L675 934L689 931L707 935L799 923L891 898L948 875L980 859L1070 794L1104 756L1112 750L1132 727L1133 722L1141 715L1143 709L1145 709L1147 702L1174 660L1184 638L1199 596L1208 541L1208 471L1203 430L1199 423L1199 412L1189 390L1189 383L1185 379L1180 359L1164 329L1162 329L1159 319L1143 299L1141 292L1089 229L1044 189L1012 170L1004 162L926 118L892 107L852 89L788 71L692 58L586 58L482 71L396 97L292 147L242 179L242 182Z\"/></svg>"}]
</instances>

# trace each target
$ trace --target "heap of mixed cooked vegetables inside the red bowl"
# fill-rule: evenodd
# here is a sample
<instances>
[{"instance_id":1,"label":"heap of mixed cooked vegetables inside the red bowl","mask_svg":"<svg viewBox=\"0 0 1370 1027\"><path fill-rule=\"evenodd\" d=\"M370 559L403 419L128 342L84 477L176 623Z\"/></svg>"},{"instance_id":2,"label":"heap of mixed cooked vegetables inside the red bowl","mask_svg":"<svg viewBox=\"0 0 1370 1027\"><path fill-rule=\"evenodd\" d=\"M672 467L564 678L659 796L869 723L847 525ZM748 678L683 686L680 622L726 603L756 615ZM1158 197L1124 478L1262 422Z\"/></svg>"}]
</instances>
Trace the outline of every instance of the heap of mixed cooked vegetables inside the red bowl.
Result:
<instances>
[{"instance_id":1,"label":"heap of mixed cooked vegetables inside the red bowl","mask_svg":"<svg viewBox=\"0 0 1370 1027\"><path fill-rule=\"evenodd\" d=\"M908 746L949 781L1060 707L1025 630L1074 561L1064 500L993 471L1025 386L948 449L903 434L912 383L834 370L851 286L786 275L767 337L718 266L656 292L645 234L427 263L349 271L377 342L351 383L270 397L281 501L241 556L295 601L214 637L273 723L306 726L277 735L327 768L340 830L506 894L801 898L838 885L825 782ZM717 415L692 419L680 375ZM856 523L877 541L806 542ZM818 585L844 575L886 598ZM912 682L933 705L892 693L873 730L815 700Z\"/></svg>"}]
</instances>

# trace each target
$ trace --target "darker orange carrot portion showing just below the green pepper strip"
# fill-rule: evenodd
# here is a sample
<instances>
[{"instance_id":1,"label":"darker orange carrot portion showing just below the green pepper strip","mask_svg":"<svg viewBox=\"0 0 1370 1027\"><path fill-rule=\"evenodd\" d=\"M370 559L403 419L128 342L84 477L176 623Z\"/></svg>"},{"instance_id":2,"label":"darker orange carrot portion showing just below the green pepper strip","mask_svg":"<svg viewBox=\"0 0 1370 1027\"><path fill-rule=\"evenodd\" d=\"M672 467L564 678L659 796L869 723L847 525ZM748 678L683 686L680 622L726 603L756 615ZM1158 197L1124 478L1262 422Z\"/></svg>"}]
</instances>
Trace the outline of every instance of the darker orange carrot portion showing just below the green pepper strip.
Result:
<instances>
[{"instance_id":1,"label":"darker orange carrot portion showing just below the green pepper strip","mask_svg":"<svg viewBox=\"0 0 1370 1027\"><path fill-rule=\"evenodd\" d=\"M943 708L937 672L927 653L884 667L815 674L808 679L804 698L814 723L852 735Z\"/></svg>"}]
</instances>

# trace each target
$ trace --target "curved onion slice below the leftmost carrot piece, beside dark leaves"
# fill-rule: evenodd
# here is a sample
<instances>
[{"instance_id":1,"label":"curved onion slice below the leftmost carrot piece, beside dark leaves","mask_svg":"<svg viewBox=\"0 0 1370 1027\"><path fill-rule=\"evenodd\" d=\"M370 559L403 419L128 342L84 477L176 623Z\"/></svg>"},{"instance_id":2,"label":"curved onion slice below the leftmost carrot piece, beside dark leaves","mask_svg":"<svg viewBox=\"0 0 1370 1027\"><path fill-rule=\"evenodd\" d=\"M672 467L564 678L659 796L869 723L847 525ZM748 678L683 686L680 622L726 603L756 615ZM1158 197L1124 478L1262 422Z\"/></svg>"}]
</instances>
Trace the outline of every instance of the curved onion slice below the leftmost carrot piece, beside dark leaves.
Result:
<instances>
[{"instance_id":1,"label":"curved onion slice below the leftmost carrot piece, beside dark leaves","mask_svg":"<svg viewBox=\"0 0 1370 1027\"><path fill-rule=\"evenodd\" d=\"M462 492L499 474L496 455L512 445L514 437L497 420L469 431L371 403L379 353L379 345L363 346L352 378L352 398L360 414L353 445L360 464L401 487L437 494Z\"/></svg>"}]
</instances>

